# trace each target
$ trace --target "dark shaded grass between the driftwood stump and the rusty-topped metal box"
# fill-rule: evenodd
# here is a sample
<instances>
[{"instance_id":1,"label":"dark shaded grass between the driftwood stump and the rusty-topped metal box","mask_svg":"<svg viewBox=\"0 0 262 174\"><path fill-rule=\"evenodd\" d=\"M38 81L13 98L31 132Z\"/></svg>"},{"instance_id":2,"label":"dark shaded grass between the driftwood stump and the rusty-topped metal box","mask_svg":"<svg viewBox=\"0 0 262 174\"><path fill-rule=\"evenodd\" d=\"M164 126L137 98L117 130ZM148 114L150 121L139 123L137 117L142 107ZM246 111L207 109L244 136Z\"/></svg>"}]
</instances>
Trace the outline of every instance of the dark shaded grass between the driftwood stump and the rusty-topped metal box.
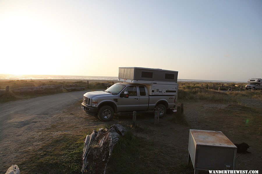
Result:
<instances>
[{"instance_id":1,"label":"dark shaded grass between the driftwood stump and the rusty-topped metal box","mask_svg":"<svg viewBox=\"0 0 262 174\"><path fill-rule=\"evenodd\" d=\"M137 137L128 130L115 145L107 173L192 173L176 147Z\"/></svg>"}]
</instances>

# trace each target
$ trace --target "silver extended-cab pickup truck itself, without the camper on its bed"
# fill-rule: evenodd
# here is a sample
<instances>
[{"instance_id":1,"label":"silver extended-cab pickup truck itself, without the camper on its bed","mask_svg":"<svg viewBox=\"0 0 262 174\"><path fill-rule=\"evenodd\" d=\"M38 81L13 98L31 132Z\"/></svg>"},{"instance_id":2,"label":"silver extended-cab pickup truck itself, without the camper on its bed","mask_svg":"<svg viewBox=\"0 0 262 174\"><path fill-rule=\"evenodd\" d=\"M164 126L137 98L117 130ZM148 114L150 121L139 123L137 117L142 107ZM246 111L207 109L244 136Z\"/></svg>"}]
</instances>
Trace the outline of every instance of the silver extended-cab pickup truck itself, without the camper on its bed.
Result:
<instances>
[{"instance_id":1,"label":"silver extended-cab pickup truck itself, without the camper on its bed","mask_svg":"<svg viewBox=\"0 0 262 174\"><path fill-rule=\"evenodd\" d=\"M177 95L148 95L143 84L116 83L105 91L85 93L82 109L89 115L98 115L101 121L110 121L114 113L154 110L158 106L160 117L168 108L174 108Z\"/></svg>"}]
</instances>

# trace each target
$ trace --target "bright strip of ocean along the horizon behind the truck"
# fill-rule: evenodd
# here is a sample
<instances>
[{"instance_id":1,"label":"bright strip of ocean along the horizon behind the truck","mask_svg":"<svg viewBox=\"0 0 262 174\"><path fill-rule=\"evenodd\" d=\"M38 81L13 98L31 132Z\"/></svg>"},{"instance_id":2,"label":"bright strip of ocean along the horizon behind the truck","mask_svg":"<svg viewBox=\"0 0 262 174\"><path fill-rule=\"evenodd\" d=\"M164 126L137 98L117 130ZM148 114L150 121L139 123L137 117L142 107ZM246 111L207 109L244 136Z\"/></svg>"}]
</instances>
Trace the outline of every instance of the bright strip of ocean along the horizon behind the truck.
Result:
<instances>
[{"instance_id":1,"label":"bright strip of ocean along the horizon behind the truck","mask_svg":"<svg viewBox=\"0 0 262 174\"><path fill-rule=\"evenodd\" d=\"M30 80L30 79L77 79L77 80L118 80L118 77L107 76L79 76L79 75L13 75L13 74L0 74L0 79L10 80ZM178 79L179 82L245 82L245 81L219 81L219 80L197 80L197 79Z\"/></svg>"}]
</instances>

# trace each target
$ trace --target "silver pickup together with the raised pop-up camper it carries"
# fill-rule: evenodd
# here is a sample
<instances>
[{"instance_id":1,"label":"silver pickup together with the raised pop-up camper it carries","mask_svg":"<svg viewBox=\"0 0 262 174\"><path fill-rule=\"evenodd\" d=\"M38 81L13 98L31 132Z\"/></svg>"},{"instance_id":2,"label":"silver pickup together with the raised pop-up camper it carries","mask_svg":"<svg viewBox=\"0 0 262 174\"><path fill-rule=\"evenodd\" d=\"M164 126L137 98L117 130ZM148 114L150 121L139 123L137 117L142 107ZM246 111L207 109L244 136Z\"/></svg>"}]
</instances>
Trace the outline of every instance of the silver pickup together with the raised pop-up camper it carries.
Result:
<instances>
[{"instance_id":1,"label":"silver pickup together with the raised pop-up camper it carries","mask_svg":"<svg viewBox=\"0 0 262 174\"><path fill-rule=\"evenodd\" d=\"M98 115L101 121L113 119L114 113L144 112L159 108L159 116L174 108L177 100L178 71L120 67L118 81L105 91L85 93L82 109Z\"/></svg>"}]
</instances>

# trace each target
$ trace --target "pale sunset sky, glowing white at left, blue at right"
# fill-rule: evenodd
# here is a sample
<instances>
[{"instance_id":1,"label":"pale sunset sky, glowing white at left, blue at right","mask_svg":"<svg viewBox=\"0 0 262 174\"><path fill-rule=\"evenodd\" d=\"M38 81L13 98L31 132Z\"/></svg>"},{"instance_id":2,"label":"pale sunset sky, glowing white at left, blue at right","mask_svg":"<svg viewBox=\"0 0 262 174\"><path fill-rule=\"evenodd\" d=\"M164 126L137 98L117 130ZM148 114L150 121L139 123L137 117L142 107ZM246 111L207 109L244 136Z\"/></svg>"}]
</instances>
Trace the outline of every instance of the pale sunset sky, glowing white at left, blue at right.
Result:
<instances>
[{"instance_id":1,"label":"pale sunset sky, glowing white at left, blue at right","mask_svg":"<svg viewBox=\"0 0 262 174\"><path fill-rule=\"evenodd\" d=\"M262 78L261 0L0 0L0 74Z\"/></svg>"}]
</instances>

